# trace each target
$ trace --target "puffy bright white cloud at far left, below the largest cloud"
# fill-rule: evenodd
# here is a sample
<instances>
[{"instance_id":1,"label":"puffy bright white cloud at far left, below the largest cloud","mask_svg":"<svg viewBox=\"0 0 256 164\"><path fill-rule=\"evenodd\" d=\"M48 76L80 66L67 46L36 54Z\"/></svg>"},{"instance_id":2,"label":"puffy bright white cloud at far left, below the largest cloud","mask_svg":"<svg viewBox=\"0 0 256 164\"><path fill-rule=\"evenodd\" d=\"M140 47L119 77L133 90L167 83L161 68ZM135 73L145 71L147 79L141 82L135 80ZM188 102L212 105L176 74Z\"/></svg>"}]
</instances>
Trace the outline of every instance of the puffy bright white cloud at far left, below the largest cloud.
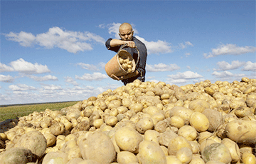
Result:
<instances>
[{"instance_id":1,"label":"puffy bright white cloud at far left, below the largest cloud","mask_svg":"<svg viewBox=\"0 0 256 164\"><path fill-rule=\"evenodd\" d=\"M48 73L50 70L46 65L42 65L39 63L29 63L28 61L24 61L23 58L20 58L16 61L11 61L11 68L14 71L18 71L26 74L38 74L38 73Z\"/></svg>"}]
</instances>

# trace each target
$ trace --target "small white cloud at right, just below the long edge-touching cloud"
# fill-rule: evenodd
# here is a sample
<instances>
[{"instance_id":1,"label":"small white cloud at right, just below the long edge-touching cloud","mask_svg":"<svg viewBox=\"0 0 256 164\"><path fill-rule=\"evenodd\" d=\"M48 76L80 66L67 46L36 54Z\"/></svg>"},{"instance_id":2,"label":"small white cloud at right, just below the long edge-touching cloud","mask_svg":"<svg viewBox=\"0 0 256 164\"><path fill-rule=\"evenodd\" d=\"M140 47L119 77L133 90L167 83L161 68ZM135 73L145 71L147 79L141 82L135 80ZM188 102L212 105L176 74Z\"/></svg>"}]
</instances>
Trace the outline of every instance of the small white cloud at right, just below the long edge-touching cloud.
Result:
<instances>
[{"instance_id":1,"label":"small white cloud at right, just below the long edge-touching cloud","mask_svg":"<svg viewBox=\"0 0 256 164\"><path fill-rule=\"evenodd\" d=\"M228 63L226 61L219 61L216 63L218 68L213 68L213 71L225 71L225 70L231 70L231 69L237 69L240 68L245 64L245 62L242 61L232 61L232 63Z\"/></svg>"}]
</instances>

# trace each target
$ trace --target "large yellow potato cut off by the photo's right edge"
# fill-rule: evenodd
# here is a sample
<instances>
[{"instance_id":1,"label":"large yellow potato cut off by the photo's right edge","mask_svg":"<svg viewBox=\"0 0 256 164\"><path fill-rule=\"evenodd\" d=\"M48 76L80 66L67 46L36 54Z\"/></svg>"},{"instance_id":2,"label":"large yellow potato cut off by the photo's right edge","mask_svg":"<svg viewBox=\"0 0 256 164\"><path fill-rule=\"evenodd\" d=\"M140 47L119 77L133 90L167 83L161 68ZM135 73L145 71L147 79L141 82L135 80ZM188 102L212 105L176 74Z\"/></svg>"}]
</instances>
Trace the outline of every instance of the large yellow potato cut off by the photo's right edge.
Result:
<instances>
[{"instance_id":1,"label":"large yellow potato cut off by the photo's right edge","mask_svg":"<svg viewBox=\"0 0 256 164\"><path fill-rule=\"evenodd\" d=\"M256 143L256 121L230 121L225 127L225 134L237 143Z\"/></svg>"}]
</instances>

